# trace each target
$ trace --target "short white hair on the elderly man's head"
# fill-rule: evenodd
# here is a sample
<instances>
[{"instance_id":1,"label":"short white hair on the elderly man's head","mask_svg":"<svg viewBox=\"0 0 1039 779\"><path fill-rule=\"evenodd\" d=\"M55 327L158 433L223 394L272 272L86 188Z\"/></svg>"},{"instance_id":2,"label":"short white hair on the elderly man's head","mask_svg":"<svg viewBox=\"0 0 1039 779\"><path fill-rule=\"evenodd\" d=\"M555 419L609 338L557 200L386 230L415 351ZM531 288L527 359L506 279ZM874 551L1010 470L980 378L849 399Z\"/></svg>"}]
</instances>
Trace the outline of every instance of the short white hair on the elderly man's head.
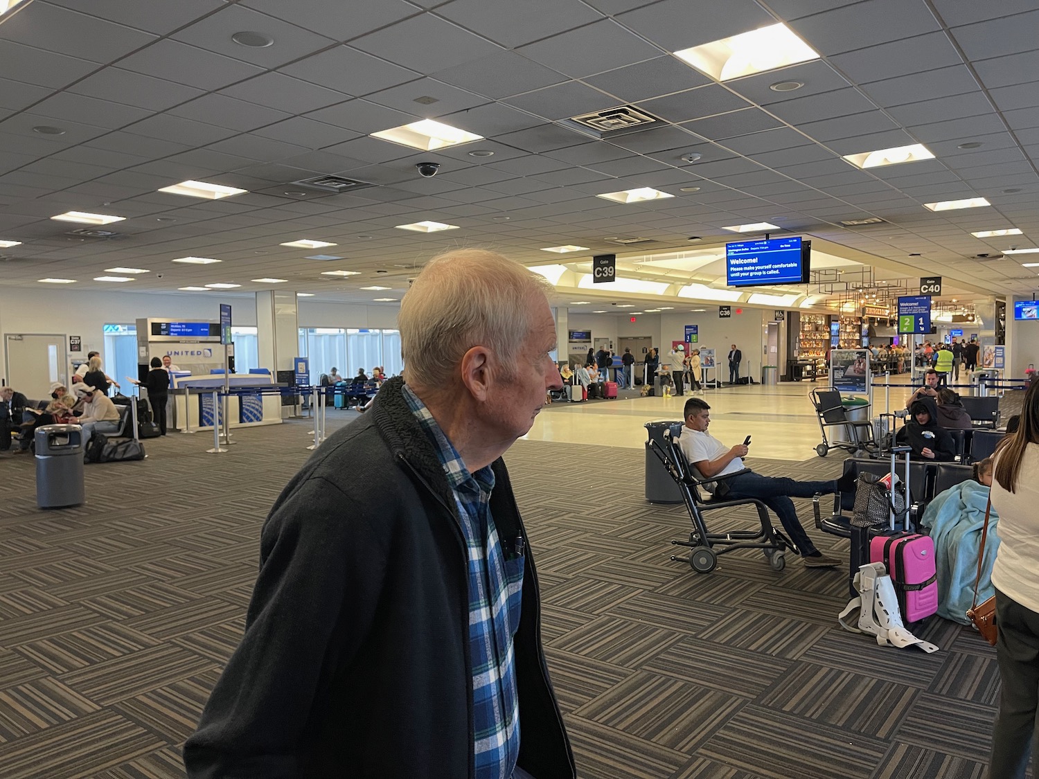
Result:
<instances>
[{"instance_id":1,"label":"short white hair on the elderly man's head","mask_svg":"<svg viewBox=\"0 0 1039 779\"><path fill-rule=\"evenodd\" d=\"M513 375L534 304L549 289L544 278L494 251L456 249L433 258L400 303L405 379L447 387L474 346L487 347L505 376Z\"/></svg>"}]
</instances>

